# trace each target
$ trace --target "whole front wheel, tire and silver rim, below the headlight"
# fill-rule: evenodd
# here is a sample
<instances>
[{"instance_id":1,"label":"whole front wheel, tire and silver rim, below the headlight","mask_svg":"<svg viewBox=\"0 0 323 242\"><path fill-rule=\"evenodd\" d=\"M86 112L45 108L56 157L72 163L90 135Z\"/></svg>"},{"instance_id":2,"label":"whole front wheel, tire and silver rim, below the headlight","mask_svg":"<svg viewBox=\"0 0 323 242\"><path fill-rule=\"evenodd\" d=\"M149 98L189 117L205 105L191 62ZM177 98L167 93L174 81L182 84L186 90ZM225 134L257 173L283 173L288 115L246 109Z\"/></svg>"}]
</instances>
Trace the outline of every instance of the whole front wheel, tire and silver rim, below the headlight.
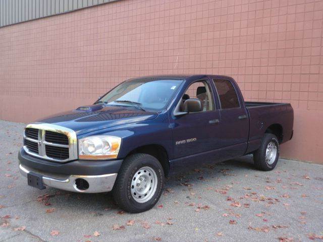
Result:
<instances>
[{"instance_id":1,"label":"whole front wheel, tire and silver rim, below the headlight","mask_svg":"<svg viewBox=\"0 0 323 242\"><path fill-rule=\"evenodd\" d=\"M113 198L125 211L140 213L158 202L164 181L163 167L155 157L133 154L124 160L120 168Z\"/></svg>"}]
</instances>

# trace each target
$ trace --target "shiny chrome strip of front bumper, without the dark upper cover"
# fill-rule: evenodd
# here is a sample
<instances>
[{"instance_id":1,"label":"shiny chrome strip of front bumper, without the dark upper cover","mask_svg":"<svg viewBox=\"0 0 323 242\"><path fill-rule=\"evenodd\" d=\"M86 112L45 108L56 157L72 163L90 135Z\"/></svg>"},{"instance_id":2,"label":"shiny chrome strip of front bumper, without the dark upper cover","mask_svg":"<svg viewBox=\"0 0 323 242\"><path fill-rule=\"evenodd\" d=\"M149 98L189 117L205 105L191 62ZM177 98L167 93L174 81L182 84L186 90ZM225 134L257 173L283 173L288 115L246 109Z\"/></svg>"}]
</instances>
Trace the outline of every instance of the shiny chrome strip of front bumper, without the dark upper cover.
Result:
<instances>
[{"instance_id":1,"label":"shiny chrome strip of front bumper, without the dark upper cover","mask_svg":"<svg viewBox=\"0 0 323 242\"><path fill-rule=\"evenodd\" d=\"M27 174L32 170L24 167L22 164L19 164L19 171L23 176L27 177ZM112 173L103 175L69 175L61 176L58 178L55 177L55 175L41 174L37 171L32 172L42 175L42 183L45 186L78 193L110 192L115 184L118 174ZM75 180L77 178L85 179L89 184L89 188L86 190L79 190L75 184Z\"/></svg>"}]
</instances>

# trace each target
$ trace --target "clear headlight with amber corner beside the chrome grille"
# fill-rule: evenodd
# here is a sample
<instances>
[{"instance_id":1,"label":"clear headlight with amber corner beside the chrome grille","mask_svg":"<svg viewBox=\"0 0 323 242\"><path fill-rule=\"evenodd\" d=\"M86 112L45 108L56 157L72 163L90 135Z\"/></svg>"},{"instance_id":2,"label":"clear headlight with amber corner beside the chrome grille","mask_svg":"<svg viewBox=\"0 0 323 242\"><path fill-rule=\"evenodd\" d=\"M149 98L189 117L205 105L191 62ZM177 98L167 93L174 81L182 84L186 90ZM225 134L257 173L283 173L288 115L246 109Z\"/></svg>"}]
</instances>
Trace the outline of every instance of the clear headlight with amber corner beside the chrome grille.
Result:
<instances>
[{"instance_id":1,"label":"clear headlight with amber corner beside the chrome grille","mask_svg":"<svg viewBox=\"0 0 323 242\"><path fill-rule=\"evenodd\" d=\"M114 159L118 156L121 138L110 135L95 135L80 139L78 142L80 159Z\"/></svg>"}]
</instances>

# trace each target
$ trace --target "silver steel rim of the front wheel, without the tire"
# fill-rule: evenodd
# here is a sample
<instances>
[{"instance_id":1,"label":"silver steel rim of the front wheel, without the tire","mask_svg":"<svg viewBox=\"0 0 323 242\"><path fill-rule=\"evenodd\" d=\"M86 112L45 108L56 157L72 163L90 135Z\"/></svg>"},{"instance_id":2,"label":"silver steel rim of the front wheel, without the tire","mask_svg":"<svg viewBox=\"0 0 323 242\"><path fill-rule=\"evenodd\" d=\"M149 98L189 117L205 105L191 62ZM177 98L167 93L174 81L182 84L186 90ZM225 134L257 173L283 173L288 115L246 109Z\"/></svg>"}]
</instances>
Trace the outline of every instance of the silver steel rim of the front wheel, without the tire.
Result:
<instances>
[{"instance_id":1,"label":"silver steel rim of the front wheel, without the tire","mask_svg":"<svg viewBox=\"0 0 323 242\"><path fill-rule=\"evenodd\" d=\"M149 201L157 189L157 174L149 166L144 166L136 171L131 181L131 195L138 203Z\"/></svg>"}]
</instances>

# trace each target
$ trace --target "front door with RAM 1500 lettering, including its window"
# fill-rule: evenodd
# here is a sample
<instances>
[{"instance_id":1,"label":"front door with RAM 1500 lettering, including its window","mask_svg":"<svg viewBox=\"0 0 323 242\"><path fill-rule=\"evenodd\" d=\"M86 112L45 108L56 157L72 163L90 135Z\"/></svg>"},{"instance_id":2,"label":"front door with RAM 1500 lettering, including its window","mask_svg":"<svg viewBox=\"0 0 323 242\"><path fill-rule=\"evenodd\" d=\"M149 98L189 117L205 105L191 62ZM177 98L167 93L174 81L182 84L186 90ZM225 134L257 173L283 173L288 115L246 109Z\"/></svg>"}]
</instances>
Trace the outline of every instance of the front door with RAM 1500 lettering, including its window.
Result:
<instances>
[{"instance_id":1,"label":"front door with RAM 1500 lettering, including its window","mask_svg":"<svg viewBox=\"0 0 323 242\"><path fill-rule=\"evenodd\" d=\"M171 120L173 127L174 157L180 158L217 149L220 146L220 112L216 110L208 81L194 82L183 95L198 98L202 111L190 112Z\"/></svg>"}]
</instances>

